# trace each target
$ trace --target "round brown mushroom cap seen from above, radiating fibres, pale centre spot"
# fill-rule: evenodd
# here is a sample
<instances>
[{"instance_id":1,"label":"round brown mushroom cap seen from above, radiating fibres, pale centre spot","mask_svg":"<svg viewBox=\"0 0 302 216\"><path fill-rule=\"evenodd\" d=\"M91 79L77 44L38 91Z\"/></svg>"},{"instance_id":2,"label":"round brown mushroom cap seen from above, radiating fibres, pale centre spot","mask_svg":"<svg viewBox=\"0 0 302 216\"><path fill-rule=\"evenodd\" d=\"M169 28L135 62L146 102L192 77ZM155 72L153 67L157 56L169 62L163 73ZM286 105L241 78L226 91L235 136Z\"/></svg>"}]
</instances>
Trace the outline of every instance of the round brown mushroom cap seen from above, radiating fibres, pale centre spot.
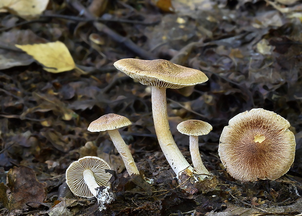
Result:
<instances>
[{"instance_id":1,"label":"round brown mushroom cap seen from above, radiating fibres, pale centre spot","mask_svg":"<svg viewBox=\"0 0 302 216\"><path fill-rule=\"evenodd\" d=\"M218 154L232 177L241 181L275 180L289 170L296 141L286 119L258 108L240 113L228 123Z\"/></svg>"}]
</instances>

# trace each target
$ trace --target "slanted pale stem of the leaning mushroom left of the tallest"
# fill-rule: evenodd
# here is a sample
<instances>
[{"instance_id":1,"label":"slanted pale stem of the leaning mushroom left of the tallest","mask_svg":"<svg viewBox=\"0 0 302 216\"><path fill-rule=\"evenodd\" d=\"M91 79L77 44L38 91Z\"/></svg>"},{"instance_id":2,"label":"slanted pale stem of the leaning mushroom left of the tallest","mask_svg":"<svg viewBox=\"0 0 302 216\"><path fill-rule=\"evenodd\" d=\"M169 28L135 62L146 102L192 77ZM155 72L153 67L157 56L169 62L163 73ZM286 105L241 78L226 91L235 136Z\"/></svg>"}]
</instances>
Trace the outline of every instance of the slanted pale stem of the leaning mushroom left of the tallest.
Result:
<instances>
[{"instance_id":1,"label":"slanted pale stem of the leaning mushroom left of the tallest","mask_svg":"<svg viewBox=\"0 0 302 216\"><path fill-rule=\"evenodd\" d=\"M132 174L139 175L138 169L135 165L134 159L131 155L128 145L125 143L124 139L121 137L120 133L117 129L109 130L109 136L111 137L115 148L117 149L118 153L122 157L126 170L128 171L129 175Z\"/></svg>"}]
</instances>

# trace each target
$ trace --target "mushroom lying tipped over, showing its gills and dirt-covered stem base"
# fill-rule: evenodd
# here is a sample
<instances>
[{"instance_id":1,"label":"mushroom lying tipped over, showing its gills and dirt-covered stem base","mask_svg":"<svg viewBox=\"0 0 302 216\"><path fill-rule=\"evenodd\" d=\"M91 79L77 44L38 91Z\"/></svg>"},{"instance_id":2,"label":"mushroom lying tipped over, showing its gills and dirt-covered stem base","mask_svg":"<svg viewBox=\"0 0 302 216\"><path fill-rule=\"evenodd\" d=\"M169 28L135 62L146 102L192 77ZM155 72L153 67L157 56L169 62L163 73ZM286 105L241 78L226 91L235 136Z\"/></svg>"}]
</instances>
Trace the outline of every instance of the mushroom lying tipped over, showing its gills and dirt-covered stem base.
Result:
<instances>
[{"instance_id":1,"label":"mushroom lying tipped over, showing its gills and dirt-covered stem base","mask_svg":"<svg viewBox=\"0 0 302 216\"><path fill-rule=\"evenodd\" d=\"M106 169L110 166L102 158L86 156L72 162L66 170L66 183L73 194L86 198L95 196L100 211L114 200L109 185L111 174L106 173Z\"/></svg>"}]
</instances>

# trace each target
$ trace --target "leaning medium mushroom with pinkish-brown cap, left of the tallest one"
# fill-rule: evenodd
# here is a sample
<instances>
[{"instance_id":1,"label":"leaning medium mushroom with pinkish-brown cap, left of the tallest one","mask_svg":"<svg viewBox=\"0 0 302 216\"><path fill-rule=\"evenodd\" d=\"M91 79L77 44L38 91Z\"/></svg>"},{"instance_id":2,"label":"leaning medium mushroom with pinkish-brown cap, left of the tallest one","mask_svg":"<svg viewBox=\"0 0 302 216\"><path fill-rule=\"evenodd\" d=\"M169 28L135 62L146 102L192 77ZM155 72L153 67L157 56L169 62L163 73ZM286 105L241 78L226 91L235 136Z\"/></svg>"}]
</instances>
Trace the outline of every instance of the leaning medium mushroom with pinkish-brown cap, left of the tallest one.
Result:
<instances>
[{"instance_id":1,"label":"leaning medium mushroom with pinkish-brown cap, left of the tallest one","mask_svg":"<svg viewBox=\"0 0 302 216\"><path fill-rule=\"evenodd\" d=\"M139 175L134 159L131 155L128 145L118 132L118 128L125 127L131 124L131 121L117 114L104 115L90 123L88 130L90 132L107 131L111 137L115 148L122 157L125 167L129 175Z\"/></svg>"}]
</instances>

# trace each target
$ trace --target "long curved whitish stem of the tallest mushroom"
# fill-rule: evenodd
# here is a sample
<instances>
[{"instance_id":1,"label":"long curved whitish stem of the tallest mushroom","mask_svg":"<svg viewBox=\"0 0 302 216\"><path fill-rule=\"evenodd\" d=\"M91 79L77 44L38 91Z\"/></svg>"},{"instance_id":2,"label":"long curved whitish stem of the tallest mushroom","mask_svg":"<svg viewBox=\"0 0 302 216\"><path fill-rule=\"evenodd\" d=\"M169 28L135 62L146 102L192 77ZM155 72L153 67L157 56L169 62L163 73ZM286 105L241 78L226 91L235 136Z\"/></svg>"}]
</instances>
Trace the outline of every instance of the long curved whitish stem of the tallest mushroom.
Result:
<instances>
[{"instance_id":1,"label":"long curved whitish stem of the tallest mushroom","mask_svg":"<svg viewBox=\"0 0 302 216\"><path fill-rule=\"evenodd\" d=\"M159 145L173 171L179 177L183 171L193 168L178 149L172 134L167 114L166 88L152 86L152 114Z\"/></svg>"}]
</instances>

